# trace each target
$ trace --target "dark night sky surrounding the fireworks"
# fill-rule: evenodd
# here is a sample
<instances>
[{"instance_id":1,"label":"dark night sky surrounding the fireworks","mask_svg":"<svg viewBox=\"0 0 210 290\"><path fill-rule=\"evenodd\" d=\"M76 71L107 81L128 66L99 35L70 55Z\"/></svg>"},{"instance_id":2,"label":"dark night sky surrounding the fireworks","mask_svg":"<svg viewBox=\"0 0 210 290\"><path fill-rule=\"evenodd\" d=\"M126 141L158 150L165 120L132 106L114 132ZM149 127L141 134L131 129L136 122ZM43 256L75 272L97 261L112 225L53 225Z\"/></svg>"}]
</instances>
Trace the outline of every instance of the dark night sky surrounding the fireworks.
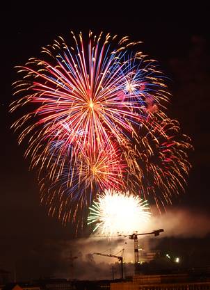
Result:
<instances>
[{"instance_id":1,"label":"dark night sky surrounding the fireworks","mask_svg":"<svg viewBox=\"0 0 210 290\"><path fill-rule=\"evenodd\" d=\"M129 35L131 40L142 40L142 50L159 61L161 70L170 78L168 85L173 95L168 115L179 120L195 147L186 193L179 196L174 208L210 218L209 8L201 1L191 7L179 4L127 3L113 8L108 3L100 7L57 3L43 8L33 1L31 7L10 3L1 10L0 268L12 271L16 264L21 269L19 279L54 275L61 244L66 245L74 237L70 225L62 227L40 207L35 172L29 172L24 147L17 145L17 136L10 130L13 116L8 113L13 99L11 83L17 77L13 67L39 56L40 48L57 35L67 39L71 30ZM39 255L34 258L35 251Z\"/></svg>"}]
</instances>

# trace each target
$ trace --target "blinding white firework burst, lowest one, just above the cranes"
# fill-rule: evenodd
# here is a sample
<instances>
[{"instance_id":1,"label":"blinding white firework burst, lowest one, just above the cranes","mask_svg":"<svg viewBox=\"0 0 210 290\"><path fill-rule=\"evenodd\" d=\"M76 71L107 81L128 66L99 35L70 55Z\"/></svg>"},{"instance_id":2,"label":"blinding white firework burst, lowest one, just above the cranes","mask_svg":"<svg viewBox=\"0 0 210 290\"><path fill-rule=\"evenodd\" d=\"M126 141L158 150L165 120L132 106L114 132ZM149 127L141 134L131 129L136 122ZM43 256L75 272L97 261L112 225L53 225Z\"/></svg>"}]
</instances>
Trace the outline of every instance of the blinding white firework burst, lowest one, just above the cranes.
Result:
<instances>
[{"instance_id":1,"label":"blinding white firework burst, lowest one, just above the cranes","mask_svg":"<svg viewBox=\"0 0 210 290\"><path fill-rule=\"evenodd\" d=\"M88 224L95 224L97 234L112 236L145 230L149 218L147 201L129 192L105 190L90 207Z\"/></svg>"}]
</instances>

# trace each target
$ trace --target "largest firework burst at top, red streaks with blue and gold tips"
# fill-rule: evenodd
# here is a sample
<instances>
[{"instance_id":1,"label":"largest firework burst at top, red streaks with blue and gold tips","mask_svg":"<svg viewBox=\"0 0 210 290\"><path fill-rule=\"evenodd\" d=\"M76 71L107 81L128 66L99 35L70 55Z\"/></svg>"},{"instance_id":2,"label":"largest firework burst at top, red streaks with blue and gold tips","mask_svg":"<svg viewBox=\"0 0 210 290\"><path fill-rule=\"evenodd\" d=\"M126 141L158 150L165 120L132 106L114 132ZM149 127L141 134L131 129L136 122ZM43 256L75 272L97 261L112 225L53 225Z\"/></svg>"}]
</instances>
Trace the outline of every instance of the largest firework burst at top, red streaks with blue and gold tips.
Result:
<instances>
[{"instance_id":1,"label":"largest firework burst at top, red streaks with blue and gold tips","mask_svg":"<svg viewBox=\"0 0 210 290\"><path fill-rule=\"evenodd\" d=\"M22 98L11 111L35 106L13 124L15 129L26 126L19 135L19 143L30 138L26 154L39 155L42 143L45 147L55 140L65 140L64 150L71 144L78 151L87 143L121 143L125 134L135 134L134 124L147 115L148 96L156 102L168 98L154 61L140 53L125 57L128 47L138 42L129 43L125 37L111 49L116 36L104 35L103 40L102 33L98 38L90 33L87 47L81 34L73 38L74 47L59 38L43 49L49 62L31 58L19 69L24 77L15 82L15 94Z\"/></svg>"}]
</instances>

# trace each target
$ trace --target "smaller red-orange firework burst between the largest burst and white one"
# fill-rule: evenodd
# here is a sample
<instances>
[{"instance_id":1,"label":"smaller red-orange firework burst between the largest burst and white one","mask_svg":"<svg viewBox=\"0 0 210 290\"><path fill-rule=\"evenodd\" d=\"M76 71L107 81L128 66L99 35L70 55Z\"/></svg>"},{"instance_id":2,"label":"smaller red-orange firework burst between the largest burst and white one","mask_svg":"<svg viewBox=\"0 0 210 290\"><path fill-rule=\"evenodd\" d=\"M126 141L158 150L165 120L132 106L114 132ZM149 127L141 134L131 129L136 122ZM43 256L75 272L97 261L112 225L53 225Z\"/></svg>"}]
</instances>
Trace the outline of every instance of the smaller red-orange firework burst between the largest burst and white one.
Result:
<instances>
[{"instance_id":1,"label":"smaller red-orange firework burst between the largest burst and white one","mask_svg":"<svg viewBox=\"0 0 210 290\"><path fill-rule=\"evenodd\" d=\"M56 157L57 159L57 157ZM92 203L95 195L104 188L124 188L122 179L126 161L113 148L101 146L86 147L78 155L71 152L70 158L60 156L60 165L51 166L40 173L41 201L49 207L50 216L58 216L63 224L75 220L78 208ZM42 177L42 178L41 178ZM48 182L47 182L48 181Z\"/></svg>"}]
</instances>

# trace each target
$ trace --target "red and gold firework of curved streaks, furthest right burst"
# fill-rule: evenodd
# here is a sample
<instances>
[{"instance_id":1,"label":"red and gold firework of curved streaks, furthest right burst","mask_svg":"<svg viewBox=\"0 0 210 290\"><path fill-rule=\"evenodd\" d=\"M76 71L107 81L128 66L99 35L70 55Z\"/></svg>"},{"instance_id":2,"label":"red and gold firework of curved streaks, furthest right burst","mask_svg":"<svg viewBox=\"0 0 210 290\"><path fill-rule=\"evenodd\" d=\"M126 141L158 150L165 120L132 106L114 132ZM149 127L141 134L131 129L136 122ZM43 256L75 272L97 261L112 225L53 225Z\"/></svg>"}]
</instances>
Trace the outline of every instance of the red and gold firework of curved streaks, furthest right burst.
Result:
<instances>
[{"instance_id":1,"label":"red and gold firework of curved streaks, furthest right burst","mask_svg":"<svg viewBox=\"0 0 210 290\"><path fill-rule=\"evenodd\" d=\"M150 122L143 123L140 137L133 138L132 145L135 150L124 150L129 188L162 211L172 204L175 195L184 191L191 169L191 139L181 134L177 120L156 118L154 114Z\"/></svg>"}]
</instances>

